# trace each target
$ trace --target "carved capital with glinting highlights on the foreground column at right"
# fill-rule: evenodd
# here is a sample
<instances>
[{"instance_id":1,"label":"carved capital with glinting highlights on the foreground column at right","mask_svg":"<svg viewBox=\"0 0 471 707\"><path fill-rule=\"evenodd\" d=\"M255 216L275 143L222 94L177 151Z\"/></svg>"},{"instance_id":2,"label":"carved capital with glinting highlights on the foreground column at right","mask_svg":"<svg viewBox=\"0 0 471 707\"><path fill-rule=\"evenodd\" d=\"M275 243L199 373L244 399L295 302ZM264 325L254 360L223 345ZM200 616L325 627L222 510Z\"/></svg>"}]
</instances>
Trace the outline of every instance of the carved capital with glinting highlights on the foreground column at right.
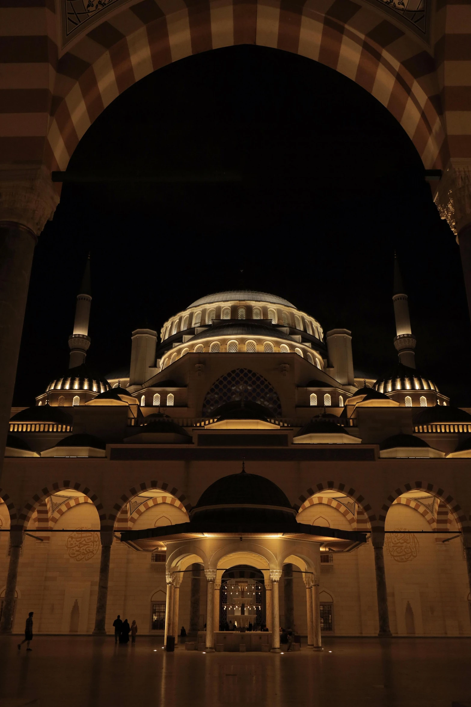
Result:
<instances>
[{"instance_id":1,"label":"carved capital with glinting highlights on the foreground column at right","mask_svg":"<svg viewBox=\"0 0 471 707\"><path fill-rule=\"evenodd\" d=\"M451 158L443 170L435 204L455 235L471 222L471 158Z\"/></svg>"}]
</instances>

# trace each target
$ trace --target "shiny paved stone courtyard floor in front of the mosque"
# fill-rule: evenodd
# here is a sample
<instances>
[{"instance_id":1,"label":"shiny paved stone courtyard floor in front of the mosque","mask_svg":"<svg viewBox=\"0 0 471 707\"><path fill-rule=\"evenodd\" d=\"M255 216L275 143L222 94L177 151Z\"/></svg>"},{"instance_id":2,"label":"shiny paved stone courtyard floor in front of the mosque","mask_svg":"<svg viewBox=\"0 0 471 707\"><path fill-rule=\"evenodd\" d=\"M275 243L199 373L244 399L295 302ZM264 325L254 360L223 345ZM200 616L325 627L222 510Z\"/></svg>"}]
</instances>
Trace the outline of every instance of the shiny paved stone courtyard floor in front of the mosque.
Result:
<instances>
[{"instance_id":1,"label":"shiny paved stone courtyard floor in front of the mosque","mask_svg":"<svg viewBox=\"0 0 471 707\"><path fill-rule=\"evenodd\" d=\"M0 637L0 707L451 707L471 701L471 638L330 638L322 653L165 653L155 638ZM331 651L331 653L330 653Z\"/></svg>"}]
</instances>

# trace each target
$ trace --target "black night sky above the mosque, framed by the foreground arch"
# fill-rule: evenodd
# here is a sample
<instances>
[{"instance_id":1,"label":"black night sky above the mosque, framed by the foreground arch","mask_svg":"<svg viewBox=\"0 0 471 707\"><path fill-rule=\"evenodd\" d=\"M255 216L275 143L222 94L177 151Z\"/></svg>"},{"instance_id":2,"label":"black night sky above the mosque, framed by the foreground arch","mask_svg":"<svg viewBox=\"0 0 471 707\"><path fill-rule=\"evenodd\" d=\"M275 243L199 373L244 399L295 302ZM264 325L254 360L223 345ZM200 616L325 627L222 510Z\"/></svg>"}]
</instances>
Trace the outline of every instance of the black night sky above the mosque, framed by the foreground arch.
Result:
<instances>
[{"instance_id":1,"label":"black night sky above the mosque, framed by the foreground arch","mask_svg":"<svg viewBox=\"0 0 471 707\"><path fill-rule=\"evenodd\" d=\"M393 252L417 370L470 404L470 322L458 246L415 147L376 99L310 59L231 47L160 69L83 136L69 170L238 170L229 184L65 184L32 268L14 404L68 366L88 250L88 363L129 366L131 330L240 284L276 293L324 331L352 329L354 367L396 360Z\"/></svg>"}]
</instances>

